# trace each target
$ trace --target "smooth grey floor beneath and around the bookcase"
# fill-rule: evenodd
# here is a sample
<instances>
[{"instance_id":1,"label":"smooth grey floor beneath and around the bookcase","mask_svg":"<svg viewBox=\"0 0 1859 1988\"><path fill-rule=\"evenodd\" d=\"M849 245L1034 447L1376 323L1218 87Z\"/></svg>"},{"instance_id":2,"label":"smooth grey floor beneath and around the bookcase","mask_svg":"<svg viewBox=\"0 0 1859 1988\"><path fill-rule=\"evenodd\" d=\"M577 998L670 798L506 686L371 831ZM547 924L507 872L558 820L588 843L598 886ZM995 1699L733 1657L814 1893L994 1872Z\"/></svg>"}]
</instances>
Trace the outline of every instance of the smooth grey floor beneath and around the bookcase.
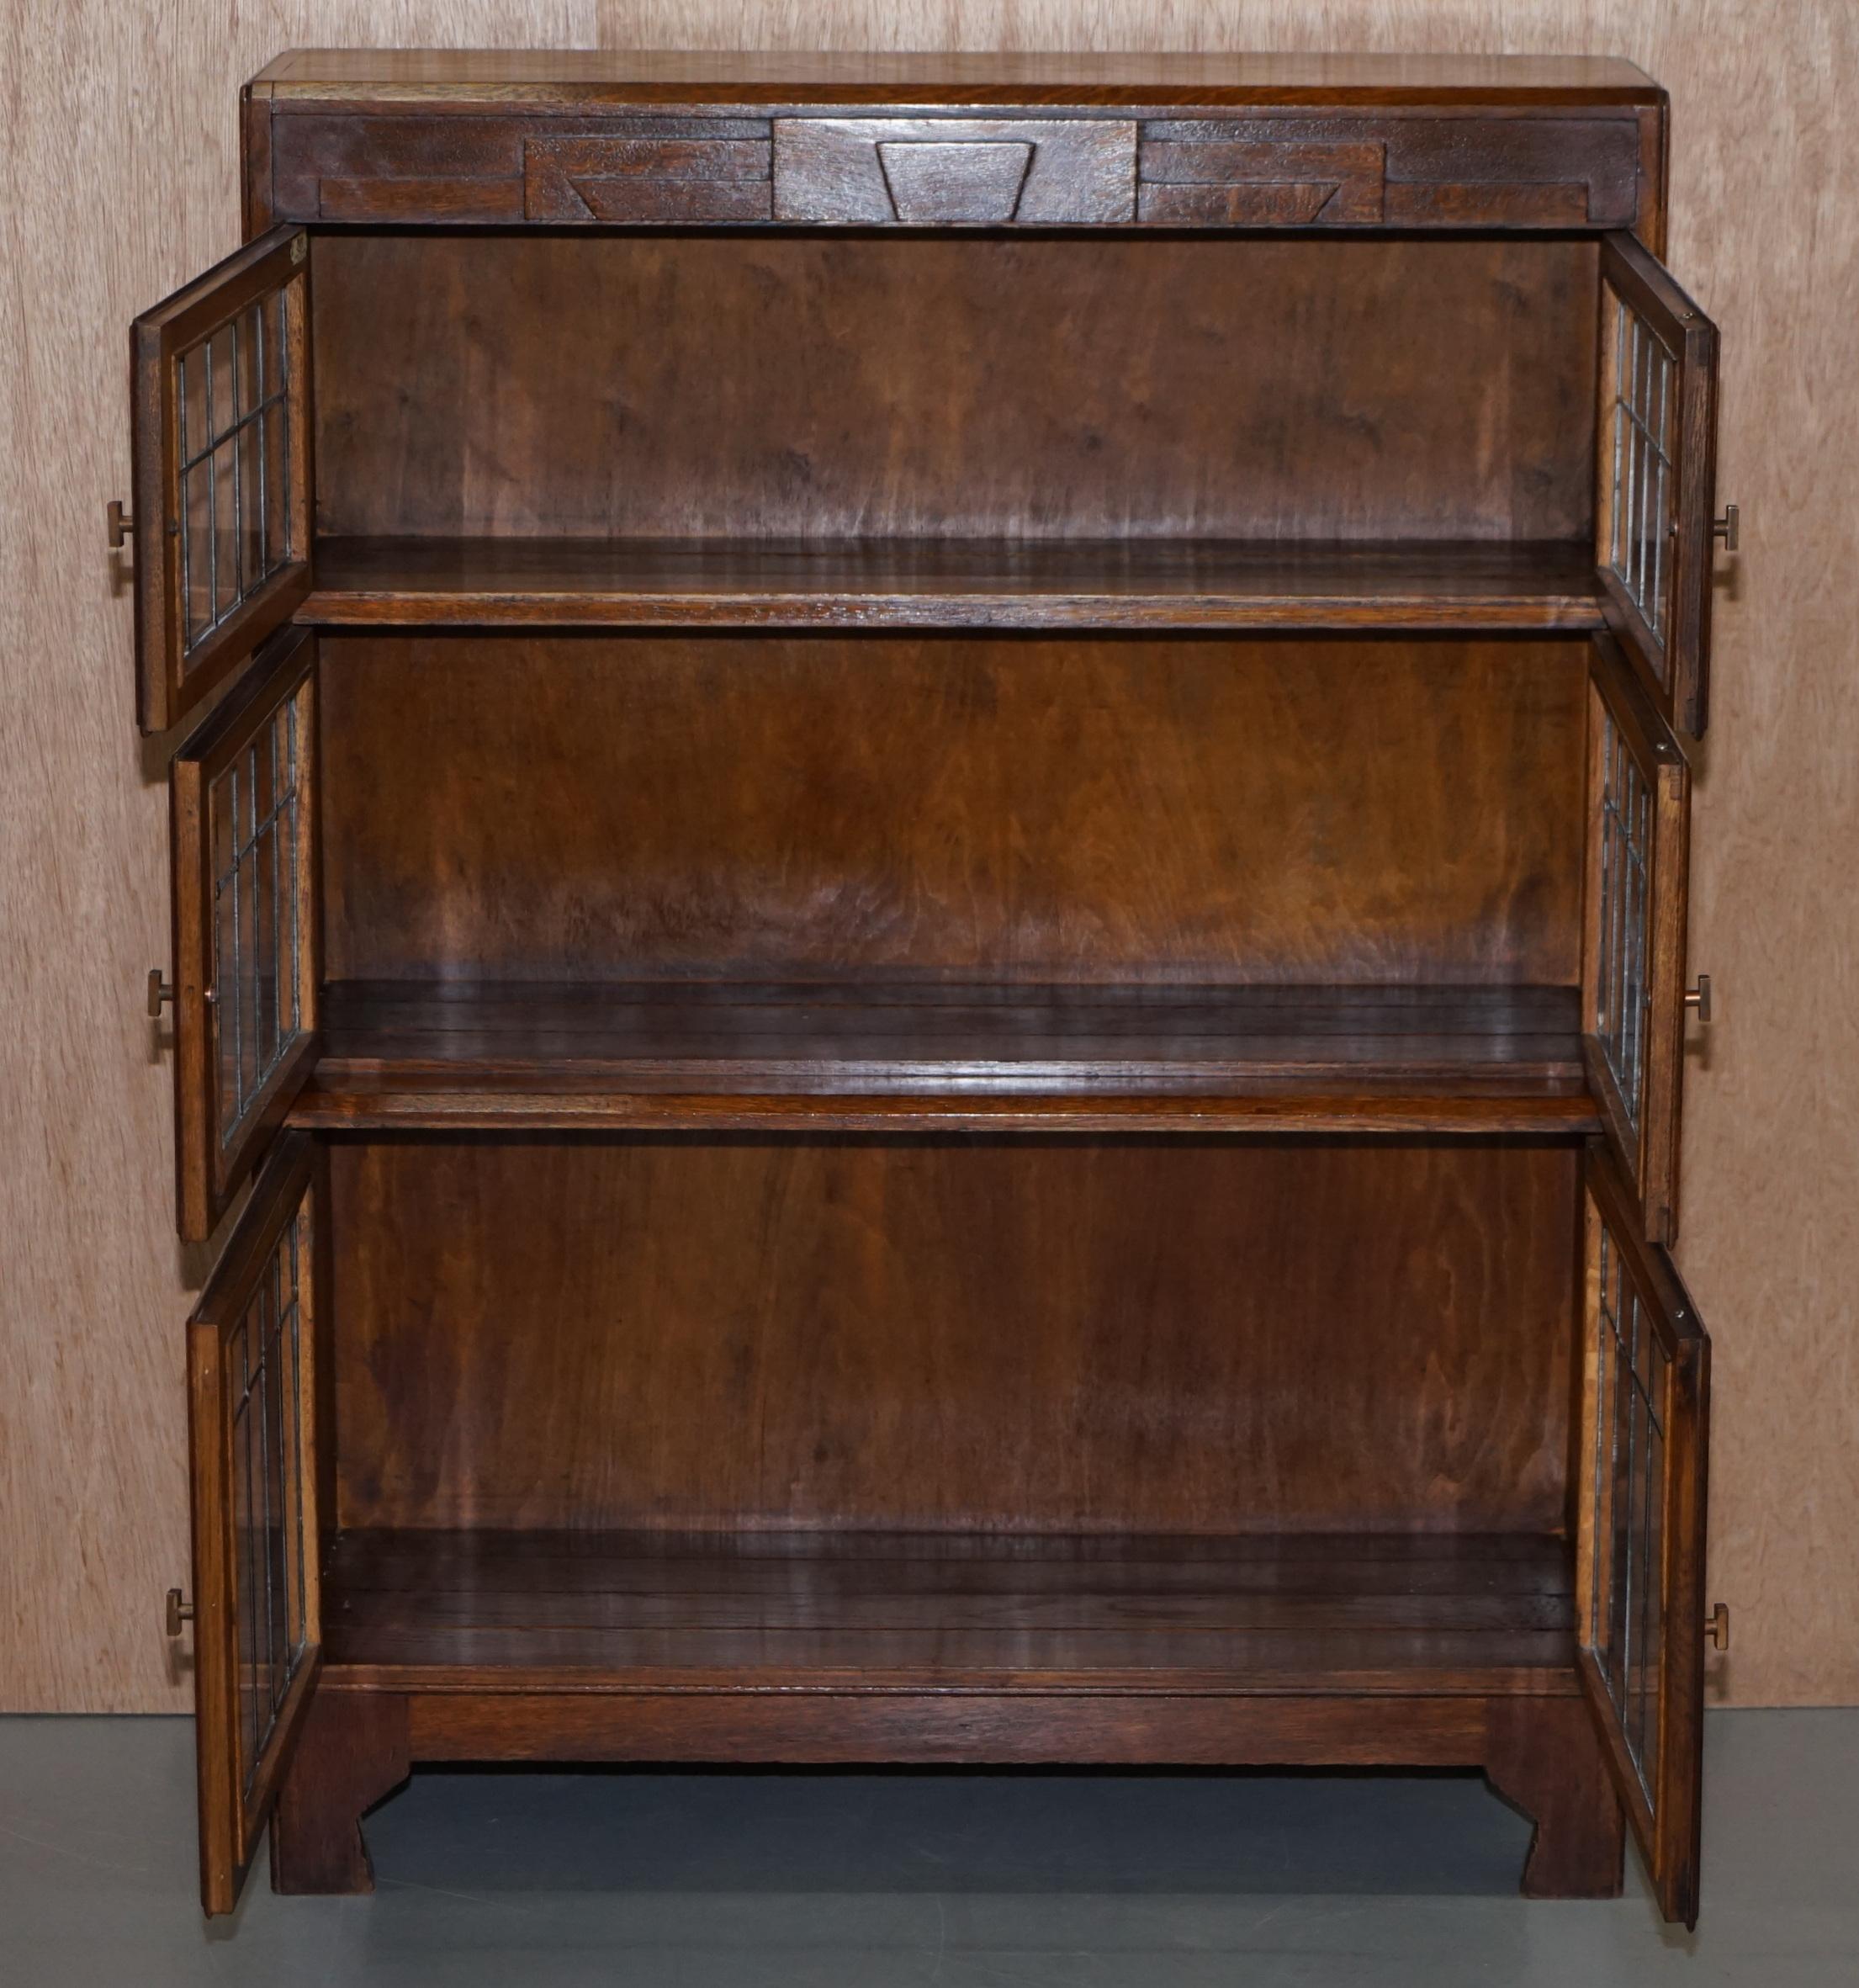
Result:
<instances>
[{"instance_id":1,"label":"smooth grey floor beneath and around the bookcase","mask_svg":"<svg viewBox=\"0 0 1859 1988\"><path fill-rule=\"evenodd\" d=\"M1859 1982L1859 1710L1708 1724L1704 1920L1515 1897L1457 1775L427 1771L372 1899L195 1903L185 1720L0 1720L0 1982Z\"/></svg>"}]
</instances>

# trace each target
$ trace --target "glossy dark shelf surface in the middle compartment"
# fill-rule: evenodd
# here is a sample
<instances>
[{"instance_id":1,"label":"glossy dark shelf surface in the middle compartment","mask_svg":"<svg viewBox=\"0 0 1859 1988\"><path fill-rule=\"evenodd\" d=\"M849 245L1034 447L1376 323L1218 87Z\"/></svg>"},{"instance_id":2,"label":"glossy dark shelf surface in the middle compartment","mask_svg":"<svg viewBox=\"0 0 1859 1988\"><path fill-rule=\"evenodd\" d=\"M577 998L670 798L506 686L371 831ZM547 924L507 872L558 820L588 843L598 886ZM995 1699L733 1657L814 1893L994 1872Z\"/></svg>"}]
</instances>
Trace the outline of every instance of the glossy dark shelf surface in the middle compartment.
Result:
<instances>
[{"instance_id":1,"label":"glossy dark shelf surface in the middle compartment","mask_svg":"<svg viewBox=\"0 0 1859 1988\"><path fill-rule=\"evenodd\" d=\"M1583 1079L1575 988L336 982L334 1062L592 1066L674 1087Z\"/></svg>"}]
</instances>

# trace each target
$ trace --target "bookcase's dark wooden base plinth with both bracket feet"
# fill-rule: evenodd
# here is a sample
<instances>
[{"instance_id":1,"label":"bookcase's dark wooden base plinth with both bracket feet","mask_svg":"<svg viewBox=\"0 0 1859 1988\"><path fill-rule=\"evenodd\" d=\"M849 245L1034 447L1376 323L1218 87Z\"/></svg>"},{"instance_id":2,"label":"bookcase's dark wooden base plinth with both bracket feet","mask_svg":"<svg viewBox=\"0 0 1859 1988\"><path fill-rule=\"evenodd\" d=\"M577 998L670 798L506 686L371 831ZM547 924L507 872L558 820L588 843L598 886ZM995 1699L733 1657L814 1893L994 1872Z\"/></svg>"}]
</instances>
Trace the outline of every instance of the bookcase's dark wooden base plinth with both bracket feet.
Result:
<instances>
[{"instance_id":1,"label":"bookcase's dark wooden base plinth with both bracket feet","mask_svg":"<svg viewBox=\"0 0 1859 1988\"><path fill-rule=\"evenodd\" d=\"M324 1676L272 1825L272 1889L366 1893L364 1813L425 1761L1469 1767L1531 1817L1521 1889L1620 1891L1587 1702L1555 1696L352 1690Z\"/></svg>"}]
</instances>

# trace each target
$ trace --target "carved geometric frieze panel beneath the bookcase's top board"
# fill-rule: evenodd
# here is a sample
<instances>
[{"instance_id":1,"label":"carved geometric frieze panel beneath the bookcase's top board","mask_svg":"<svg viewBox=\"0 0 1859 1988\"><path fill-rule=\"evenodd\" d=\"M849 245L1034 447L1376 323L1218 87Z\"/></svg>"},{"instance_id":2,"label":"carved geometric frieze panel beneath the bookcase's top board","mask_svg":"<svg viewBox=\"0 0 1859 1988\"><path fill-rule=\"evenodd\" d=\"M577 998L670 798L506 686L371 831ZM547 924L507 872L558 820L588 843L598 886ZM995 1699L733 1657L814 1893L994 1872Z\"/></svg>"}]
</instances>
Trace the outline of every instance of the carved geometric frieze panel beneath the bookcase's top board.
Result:
<instances>
[{"instance_id":1,"label":"carved geometric frieze panel beneath the bookcase's top board","mask_svg":"<svg viewBox=\"0 0 1859 1988\"><path fill-rule=\"evenodd\" d=\"M1624 229L1656 241L1662 109L1257 101L1237 115L1038 103L936 115L799 105L253 99L254 215L400 227L758 223L853 227ZM1149 105L1157 109L1157 105ZM966 111L966 115L962 115ZM1263 113L1261 113L1263 111Z\"/></svg>"}]
</instances>

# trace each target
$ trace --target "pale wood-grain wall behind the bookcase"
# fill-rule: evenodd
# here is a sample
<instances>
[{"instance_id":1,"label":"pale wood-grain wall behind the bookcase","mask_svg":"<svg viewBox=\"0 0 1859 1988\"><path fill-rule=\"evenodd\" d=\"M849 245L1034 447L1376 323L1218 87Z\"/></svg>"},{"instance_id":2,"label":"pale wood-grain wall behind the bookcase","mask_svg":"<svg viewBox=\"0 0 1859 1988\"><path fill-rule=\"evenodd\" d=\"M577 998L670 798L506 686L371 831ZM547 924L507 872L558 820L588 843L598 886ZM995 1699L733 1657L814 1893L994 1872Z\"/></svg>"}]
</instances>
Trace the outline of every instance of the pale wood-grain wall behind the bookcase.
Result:
<instances>
[{"instance_id":1,"label":"pale wood-grain wall behind the bookcase","mask_svg":"<svg viewBox=\"0 0 1859 1988\"><path fill-rule=\"evenodd\" d=\"M177 1710L187 1555L163 793L135 744L125 326L237 241L235 91L292 44L1624 54L1724 326L1680 1260L1716 1334L1720 1690L1859 1702L1859 8L1851 0L8 0L0 40L0 1708Z\"/></svg>"}]
</instances>

